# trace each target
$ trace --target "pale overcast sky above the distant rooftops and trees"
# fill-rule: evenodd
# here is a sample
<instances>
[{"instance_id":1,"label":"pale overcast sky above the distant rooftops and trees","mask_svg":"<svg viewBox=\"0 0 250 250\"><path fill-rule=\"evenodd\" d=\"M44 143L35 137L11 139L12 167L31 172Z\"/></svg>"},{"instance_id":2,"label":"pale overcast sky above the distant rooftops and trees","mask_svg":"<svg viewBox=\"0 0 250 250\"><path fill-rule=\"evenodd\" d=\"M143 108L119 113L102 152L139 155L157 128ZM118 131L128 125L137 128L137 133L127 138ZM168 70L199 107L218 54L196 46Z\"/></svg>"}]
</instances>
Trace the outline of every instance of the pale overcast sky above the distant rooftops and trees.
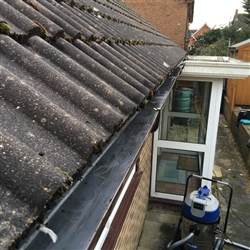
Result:
<instances>
[{"instance_id":1,"label":"pale overcast sky above the distant rooftops and trees","mask_svg":"<svg viewBox=\"0 0 250 250\"><path fill-rule=\"evenodd\" d=\"M228 25L235 10L244 13L242 0L195 0L193 23L190 29L199 29L206 23L210 28Z\"/></svg>"}]
</instances>

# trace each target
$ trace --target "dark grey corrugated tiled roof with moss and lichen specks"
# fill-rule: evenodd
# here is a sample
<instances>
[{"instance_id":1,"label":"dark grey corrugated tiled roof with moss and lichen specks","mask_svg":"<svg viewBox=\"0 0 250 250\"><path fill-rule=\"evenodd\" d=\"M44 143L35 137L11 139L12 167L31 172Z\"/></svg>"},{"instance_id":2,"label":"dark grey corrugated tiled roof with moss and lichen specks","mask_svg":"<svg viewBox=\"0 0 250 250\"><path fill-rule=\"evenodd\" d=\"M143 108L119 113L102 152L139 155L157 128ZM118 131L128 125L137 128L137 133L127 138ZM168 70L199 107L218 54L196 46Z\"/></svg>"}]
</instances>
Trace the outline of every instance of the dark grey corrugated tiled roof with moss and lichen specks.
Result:
<instances>
[{"instance_id":1,"label":"dark grey corrugated tiled roof with moss and lichen specks","mask_svg":"<svg viewBox=\"0 0 250 250\"><path fill-rule=\"evenodd\" d=\"M185 51L121 1L0 6L2 249L71 187Z\"/></svg>"}]
</instances>

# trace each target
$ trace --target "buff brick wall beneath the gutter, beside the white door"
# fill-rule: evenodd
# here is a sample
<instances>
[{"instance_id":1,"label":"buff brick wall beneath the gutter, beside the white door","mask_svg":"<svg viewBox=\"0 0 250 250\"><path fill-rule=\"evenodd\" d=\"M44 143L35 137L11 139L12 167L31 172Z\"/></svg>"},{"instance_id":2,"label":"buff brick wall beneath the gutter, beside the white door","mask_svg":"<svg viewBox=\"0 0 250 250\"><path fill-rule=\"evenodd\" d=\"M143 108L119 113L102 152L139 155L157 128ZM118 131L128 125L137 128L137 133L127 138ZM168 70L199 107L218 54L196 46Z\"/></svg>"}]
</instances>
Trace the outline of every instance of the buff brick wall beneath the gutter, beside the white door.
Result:
<instances>
[{"instance_id":1,"label":"buff brick wall beneath the gutter, beside the white door","mask_svg":"<svg viewBox=\"0 0 250 250\"><path fill-rule=\"evenodd\" d=\"M152 137L152 134L150 134L149 138L145 141L137 161L139 167L138 171L142 171L142 178L116 241L114 249L117 250L137 249L139 244L144 219L148 209Z\"/></svg>"}]
</instances>

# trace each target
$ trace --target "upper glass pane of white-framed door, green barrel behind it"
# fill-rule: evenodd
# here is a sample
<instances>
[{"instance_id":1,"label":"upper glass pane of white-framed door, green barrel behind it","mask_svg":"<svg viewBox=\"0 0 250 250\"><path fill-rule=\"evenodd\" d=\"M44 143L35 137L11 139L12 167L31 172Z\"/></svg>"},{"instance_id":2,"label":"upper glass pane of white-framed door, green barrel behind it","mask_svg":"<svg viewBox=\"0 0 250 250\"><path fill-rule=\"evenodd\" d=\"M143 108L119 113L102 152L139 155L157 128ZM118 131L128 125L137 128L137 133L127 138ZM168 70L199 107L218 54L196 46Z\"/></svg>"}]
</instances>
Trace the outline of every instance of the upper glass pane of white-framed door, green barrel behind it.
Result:
<instances>
[{"instance_id":1,"label":"upper glass pane of white-framed door, green barrel behind it","mask_svg":"<svg viewBox=\"0 0 250 250\"><path fill-rule=\"evenodd\" d=\"M160 140L205 143L211 86L177 82L161 113Z\"/></svg>"}]
</instances>

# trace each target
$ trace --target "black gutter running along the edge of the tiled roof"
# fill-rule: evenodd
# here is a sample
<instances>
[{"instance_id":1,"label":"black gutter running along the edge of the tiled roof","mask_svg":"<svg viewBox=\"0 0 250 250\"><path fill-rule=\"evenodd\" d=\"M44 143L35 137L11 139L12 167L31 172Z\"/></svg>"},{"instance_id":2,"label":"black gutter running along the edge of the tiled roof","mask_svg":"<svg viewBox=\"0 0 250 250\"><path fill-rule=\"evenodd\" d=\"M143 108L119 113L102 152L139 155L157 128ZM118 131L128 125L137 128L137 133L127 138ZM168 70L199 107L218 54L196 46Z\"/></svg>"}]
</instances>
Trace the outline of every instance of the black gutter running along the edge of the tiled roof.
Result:
<instances>
[{"instance_id":1,"label":"black gutter running along the edge of the tiled roof","mask_svg":"<svg viewBox=\"0 0 250 250\"><path fill-rule=\"evenodd\" d=\"M107 232L102 234L102 230L115 215L110 210L117 209L117 201L123 199L134 173L136 157L183 66L181 63L173 70L147 106L131 118L116 140L45 219L46 227L57 235L57 242L53 243L48 235L36 230L22 242L20 249L89 249L93 240L101 235L100 244L104 242Z\"/></svg>"}]
</instances>

